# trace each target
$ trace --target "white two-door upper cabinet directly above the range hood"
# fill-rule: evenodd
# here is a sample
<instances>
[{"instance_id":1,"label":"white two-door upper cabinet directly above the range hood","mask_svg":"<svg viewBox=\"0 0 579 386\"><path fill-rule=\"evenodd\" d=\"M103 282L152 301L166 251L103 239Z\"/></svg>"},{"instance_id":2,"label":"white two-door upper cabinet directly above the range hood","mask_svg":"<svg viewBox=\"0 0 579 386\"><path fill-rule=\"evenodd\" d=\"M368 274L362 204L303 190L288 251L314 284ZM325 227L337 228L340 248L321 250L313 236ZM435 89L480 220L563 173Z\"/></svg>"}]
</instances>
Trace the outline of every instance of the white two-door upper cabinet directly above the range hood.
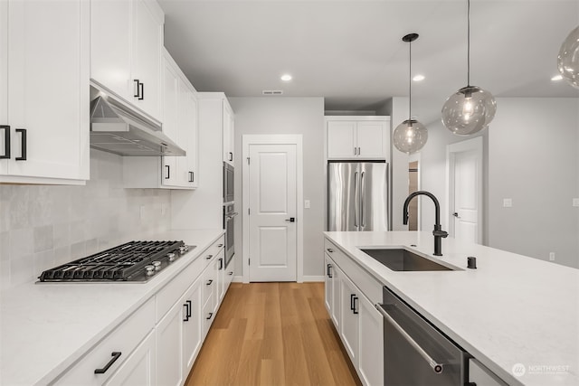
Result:
<instances>
[{"instance_id":1,"label":"white two-door upper cabinet directly above the range hood","mask_svg":"<svg viewBox=\"0 0 579 386\"><path fill-rule=\"evenodd\" d=\"M90 0L90 78L161 120L164 14L154 0Z\"/></svg>"}]
</instances>

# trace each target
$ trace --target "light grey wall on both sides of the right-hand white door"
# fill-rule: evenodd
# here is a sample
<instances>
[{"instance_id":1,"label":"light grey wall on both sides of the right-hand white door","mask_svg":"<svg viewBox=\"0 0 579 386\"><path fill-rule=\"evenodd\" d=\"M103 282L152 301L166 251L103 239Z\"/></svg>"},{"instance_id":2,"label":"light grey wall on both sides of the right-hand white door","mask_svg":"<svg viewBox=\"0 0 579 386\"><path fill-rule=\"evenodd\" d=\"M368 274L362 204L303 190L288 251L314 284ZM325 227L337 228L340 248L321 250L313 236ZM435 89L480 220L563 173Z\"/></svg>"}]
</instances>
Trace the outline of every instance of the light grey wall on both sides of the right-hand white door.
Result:
<instances>
[{"instance_id":1,"label":"light grey wall on both sides of the right-hand white door","mask_svg":"<svg viewBox=\"0 0 579 386\"><path fill-rule=\"evenodd\" d=\"M555 262L579 267L579 208L572 207L579 197L579 99L500 98L497 105L496 118L481 134L483 243L537 259L554 251ZM427 126L422 189L436 195L441 212L448 213L446 146L470 137L454 136L438 121ZM511 198L513 207L503 208L503 198ZM433 220L432 202L422 199L422 230L431 231ZM441 222L448 230L446 214Z\"/></svg>"}]
</instances>

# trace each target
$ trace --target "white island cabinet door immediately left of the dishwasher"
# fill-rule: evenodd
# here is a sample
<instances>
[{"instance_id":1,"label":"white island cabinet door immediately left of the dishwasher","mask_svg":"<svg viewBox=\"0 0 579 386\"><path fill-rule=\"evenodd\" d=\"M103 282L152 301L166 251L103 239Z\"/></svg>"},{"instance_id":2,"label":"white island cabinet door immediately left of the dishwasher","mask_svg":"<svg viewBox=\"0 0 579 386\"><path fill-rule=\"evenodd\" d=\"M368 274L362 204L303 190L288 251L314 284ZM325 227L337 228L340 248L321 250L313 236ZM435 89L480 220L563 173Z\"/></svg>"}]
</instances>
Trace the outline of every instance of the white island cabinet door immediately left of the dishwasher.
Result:
<instances>
[{"instance_id":1,"label":"white island cabinet door immediately left of the dishwasher","mask_svg":"<svg viewBox=\"0 0 579 386\"><path fill-rule=\"evenodd\" d=\"M384 383L383 317L365 296L360 296L358 369L365 385Z\"/></svg>"}]
</instances>

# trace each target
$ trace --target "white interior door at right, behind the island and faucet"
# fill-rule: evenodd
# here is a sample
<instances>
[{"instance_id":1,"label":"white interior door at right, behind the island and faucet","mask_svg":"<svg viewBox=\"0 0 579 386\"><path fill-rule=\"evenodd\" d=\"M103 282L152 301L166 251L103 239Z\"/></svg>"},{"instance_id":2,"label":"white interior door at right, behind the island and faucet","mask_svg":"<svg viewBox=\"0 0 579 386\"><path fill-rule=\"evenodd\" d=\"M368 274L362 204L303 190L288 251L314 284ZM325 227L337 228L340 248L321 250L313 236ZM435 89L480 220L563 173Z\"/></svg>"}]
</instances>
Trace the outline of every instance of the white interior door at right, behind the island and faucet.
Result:
<instances>
[{"instance_id":1,"label":"white interior door at right, behind the island and faucet","mask_svg":"<svg viewBox=\"0 0 579 386\"><path fill-rule=\"evenodd\" d=\"M449 146L450 231L455 239L482 242L482 140Z\"/></svg>"}]
</instances>

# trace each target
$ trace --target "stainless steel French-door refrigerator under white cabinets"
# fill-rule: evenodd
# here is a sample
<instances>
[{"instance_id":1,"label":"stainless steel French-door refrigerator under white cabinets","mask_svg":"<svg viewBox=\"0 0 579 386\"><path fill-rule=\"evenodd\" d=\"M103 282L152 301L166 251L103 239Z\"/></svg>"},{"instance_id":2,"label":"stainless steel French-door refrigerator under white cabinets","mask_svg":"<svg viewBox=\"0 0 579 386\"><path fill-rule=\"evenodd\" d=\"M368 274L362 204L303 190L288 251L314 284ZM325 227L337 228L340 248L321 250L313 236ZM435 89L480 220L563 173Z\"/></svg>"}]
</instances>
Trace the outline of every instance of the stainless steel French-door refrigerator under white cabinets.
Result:
<instances>
[{"instance_id":1,"label":"stainless steel French-door refrigerator under white cabinets","mask_svg":"<svg viewBox=\"0 0 579 386\"><path fill-rule=\"evenodd\" d=\"M390 230L388 164L327 163L327 231Z\"/></svg>"}]
</instances>

